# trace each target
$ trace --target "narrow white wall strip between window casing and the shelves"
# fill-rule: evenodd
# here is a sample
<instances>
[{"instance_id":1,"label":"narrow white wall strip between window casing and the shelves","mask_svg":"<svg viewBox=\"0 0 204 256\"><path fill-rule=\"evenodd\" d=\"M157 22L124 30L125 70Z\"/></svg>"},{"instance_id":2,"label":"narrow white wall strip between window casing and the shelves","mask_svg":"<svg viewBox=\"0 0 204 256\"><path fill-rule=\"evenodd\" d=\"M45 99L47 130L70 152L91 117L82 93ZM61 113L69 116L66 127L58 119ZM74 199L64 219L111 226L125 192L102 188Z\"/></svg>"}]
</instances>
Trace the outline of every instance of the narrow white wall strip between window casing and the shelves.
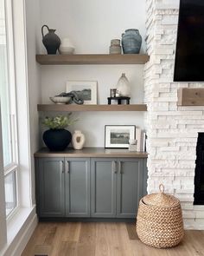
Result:
<instances>
[{"instance_id":1,"label":"narrow white wall strip between window casing and the shelves","mask_svg":"<svg viewBox=\"0 0 204 256\"><path fill-rule=\"evenodd\" d=\"M35 202L35 167L33 155L40 147L37 104L41 102L41 70L39 65L35 62L35 54L39 52L40 48L40 6L38 0L27 0L25 3L28 49L30 153L32 161L32 201Z\"/></svg>"}]
</instances>

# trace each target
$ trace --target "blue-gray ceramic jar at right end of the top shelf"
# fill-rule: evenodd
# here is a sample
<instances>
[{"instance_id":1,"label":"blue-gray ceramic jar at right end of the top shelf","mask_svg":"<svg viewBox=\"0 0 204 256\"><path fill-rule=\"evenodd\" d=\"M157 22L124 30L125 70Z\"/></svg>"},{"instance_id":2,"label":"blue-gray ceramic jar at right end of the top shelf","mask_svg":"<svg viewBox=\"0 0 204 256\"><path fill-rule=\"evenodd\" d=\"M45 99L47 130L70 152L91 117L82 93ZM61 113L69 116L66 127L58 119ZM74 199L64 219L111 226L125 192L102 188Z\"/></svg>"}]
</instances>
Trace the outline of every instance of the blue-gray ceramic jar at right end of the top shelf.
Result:
<instances>
[{"instance_id":1,"label":"blue-gray ceramic jar at right end of the top shelf","mask_svg":"<svg viewBox=\"0 0 204 256\"><path fill-rule=\"evenodd\" d=\"M124 54L138 54L141 49L142 36L139 30L125 30L122 34L122 47Z\"/></svg>"}]
</instances>

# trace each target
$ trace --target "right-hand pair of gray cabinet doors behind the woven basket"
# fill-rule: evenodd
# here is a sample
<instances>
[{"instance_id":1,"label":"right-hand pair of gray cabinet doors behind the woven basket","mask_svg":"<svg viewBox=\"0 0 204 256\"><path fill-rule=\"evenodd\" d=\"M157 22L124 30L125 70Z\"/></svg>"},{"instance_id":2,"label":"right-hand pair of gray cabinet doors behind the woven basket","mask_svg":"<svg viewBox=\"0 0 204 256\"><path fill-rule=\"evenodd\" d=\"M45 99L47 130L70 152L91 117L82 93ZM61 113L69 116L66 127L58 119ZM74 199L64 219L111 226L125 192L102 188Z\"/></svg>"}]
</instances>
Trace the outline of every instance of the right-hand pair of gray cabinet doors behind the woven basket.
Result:
<instances>
[{"instance_id":1,"label":"right-hand pair of gray cabinet doors behind the woven basket","mask_svg":"<svg viewBox=\"0 0 204 256\"><path fill-rule=\"evenodd\" d=\"M145 194L145 162L135 158L91 160L92 217L136 217Z\"/></svg>"}]
</instances>

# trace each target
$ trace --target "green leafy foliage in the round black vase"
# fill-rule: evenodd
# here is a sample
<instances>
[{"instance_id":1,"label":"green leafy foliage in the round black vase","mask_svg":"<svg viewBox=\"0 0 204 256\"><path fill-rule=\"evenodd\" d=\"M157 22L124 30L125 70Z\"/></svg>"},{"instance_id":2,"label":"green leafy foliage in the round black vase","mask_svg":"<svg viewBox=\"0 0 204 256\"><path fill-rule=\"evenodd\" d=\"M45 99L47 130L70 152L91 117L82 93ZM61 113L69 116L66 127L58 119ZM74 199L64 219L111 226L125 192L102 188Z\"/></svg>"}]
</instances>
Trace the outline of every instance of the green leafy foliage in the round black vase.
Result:
<instances>
[{"instance_id":1,"label":"green leafy foliage in the round black vase","mask_svg":"<svg viewBox=\"0 0 204 256\"><path fill-rule=\"evenodd\" d=\"M46 116L42 124L50 129L63 129L72 125L77 120L72 120L72 113L68 115L56 115L54 117Z\"/></svg>"}]
</instances>

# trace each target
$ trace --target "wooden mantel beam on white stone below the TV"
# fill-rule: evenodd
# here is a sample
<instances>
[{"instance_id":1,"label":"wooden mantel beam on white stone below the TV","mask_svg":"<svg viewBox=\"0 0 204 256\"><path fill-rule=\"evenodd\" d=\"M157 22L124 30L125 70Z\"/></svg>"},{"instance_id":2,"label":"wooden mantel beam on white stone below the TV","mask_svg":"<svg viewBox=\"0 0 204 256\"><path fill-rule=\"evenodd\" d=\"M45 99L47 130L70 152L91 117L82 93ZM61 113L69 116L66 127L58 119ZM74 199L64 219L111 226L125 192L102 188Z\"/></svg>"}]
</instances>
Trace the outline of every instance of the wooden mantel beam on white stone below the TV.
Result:
<instances>
[{"instance_id":1,"label":"wooden mantel beam on white stone below the TV","mask_svg":"<svg viewBox=\"0 0 204 256\"><path fill-rule=\"evenodd\" d=\"M204 106L204 88L178 89L178 106Z\"/></svg>"}]
</instances>

